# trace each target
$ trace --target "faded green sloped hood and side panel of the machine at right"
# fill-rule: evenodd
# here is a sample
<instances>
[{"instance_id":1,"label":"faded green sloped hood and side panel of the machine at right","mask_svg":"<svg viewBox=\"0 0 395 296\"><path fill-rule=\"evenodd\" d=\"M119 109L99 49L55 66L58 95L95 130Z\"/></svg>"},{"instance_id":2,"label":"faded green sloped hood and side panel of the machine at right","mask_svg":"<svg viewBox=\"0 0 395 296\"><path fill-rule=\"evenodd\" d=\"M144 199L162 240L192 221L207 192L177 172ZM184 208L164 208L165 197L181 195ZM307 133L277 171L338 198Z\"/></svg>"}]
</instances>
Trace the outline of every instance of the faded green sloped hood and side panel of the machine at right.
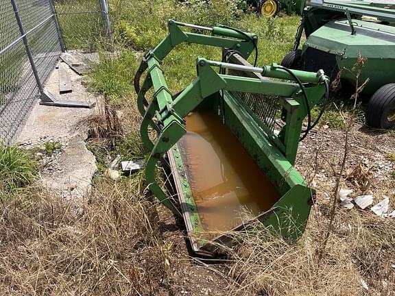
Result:
<instances>
[{"instance_id":1,"label":"faded green sloped hood and side panel of the machine at right","mask_svg":"<svg viewBox=\"0 0 395 296\"><path fill-rule=\"evenodd\" d=\"M353 23L354 35L348 21L326 23L309 36L303 47L335 55L339 69L352 69L359 54L368 58L360 81L370 78L364 92L373 94L381 86L395 81L395 27L361 20ZM352 73L345 71L344 78L355 84Z\"/></svg>"}]
</instances>

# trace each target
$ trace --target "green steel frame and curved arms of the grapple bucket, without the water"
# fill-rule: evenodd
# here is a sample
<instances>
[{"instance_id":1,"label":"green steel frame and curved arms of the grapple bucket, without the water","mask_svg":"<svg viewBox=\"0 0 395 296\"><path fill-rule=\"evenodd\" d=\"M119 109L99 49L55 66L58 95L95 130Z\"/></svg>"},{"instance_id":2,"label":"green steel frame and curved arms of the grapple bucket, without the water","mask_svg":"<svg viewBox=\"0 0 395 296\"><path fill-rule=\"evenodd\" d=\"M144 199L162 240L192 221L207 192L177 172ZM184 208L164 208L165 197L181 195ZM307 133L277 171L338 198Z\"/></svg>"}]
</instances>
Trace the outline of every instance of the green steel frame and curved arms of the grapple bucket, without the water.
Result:
<instances>
[{"instance_id":1,"label":"green steel frame and curved arms of the grapple bucket, without the water","mask_svg":"<svg viewBox=\"0 0 395 296\"><path fill-rule=\"evenodd\" d=\"M202 29L211 32L212 35L183 32L180 27ZM197 250L204 246L207 249L209 247L208 242L200 238L203 227L177 146L178 141L186 134L184 117L196 108L225 110L221 116L224 116L226 125L253 156L256 164L265 171L278 193L283 196L270 213L262 216L261 220L264 224L271 225L284 236L298 238L307 221L311 190L294 169L293 164L298 151L302 122L309 112L307 101L312 108L325 93L320 74L293 71L304 84L307 94L307 97L304 97L299 84L278 81L278 79L295 80L295 78L276 64L262 68L241 66L243 70L259 71L265 77L277 79L271 80L219 74L216 71L219 67L234 67L233 64L197 58L196 78L177 97L173 97L167 88L161 69L165 56L182 42L237 49L241 56L248 58L256 40L253 34L244 34L226 27L206 28L169 21L169 35L154 50L145 53L136 75L137 104L143 116L141 138L151 151L145 167L147 184L167 208L175 214L183 214L184 218L187 217L185 220L191 228L193 240L197 242ZM140 76L144 71L147 74L140 86ZM154 91L154 95L147 99L146 95L150 89ZM275 133L265 127L265 123L249 110L236 93L278 96L278 103L283 106L282 118L285 123L280 131ZM157 132L155 140L152 140L149 127ZM178 182L179 194L184 200L180 205L167 197L156 180L157 164L164 161L166 155L173 163L173 174ZM292 222L289 216L285 218L284 212L291 214ZM289 223L296 224L297 227L291 230L288 227Z\"/></svg>"}]
</instances>

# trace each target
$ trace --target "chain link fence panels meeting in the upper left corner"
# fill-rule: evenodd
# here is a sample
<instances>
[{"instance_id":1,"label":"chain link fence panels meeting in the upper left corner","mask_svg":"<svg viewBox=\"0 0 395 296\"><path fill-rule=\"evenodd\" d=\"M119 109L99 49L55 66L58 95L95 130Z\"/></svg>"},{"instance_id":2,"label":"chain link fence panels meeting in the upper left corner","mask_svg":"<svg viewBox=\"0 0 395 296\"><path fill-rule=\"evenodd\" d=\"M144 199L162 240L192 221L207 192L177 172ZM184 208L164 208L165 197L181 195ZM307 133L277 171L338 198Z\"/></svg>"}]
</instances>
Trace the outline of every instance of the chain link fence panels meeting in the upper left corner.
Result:
<instances>
[{"instance_id":1,"label":"chain link fence panels meeting in the upper left corner","mask_svg":"<svg viewBox=\"0 0 395 296\"><path fill-rule=\"evenodd\" d=\"M12 143L65 49L110 33L106 0L0 0L0 140Z\"/></svg>"}]
</instances>

